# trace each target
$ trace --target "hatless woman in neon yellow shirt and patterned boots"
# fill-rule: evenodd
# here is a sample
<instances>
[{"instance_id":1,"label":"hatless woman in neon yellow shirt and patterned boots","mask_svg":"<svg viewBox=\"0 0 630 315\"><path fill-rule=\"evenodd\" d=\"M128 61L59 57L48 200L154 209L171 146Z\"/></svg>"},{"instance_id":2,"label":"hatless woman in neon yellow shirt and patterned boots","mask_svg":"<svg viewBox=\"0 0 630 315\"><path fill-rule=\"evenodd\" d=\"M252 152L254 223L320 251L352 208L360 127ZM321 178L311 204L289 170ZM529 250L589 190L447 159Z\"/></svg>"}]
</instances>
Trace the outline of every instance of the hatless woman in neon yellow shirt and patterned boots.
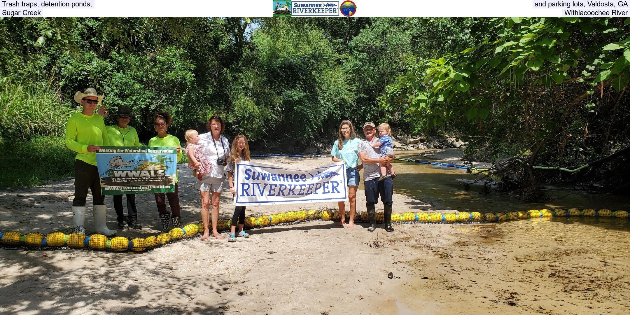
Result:
<instances>
[{"instance_id":1,"label":"hatless woman in neon yellow shirt and patterned boots","mask_svg":"<svg viewBox=\"0 0 630 315\"><path fill-rule=\"evenodd\" d=\"M181 161L181 144L180 139L177 139L175 135L169 135L167 130L168 126L173 122L171 114L166 112L157 112L153 115L153 125L157 131L157 136L152 137L149 140L149 147L175 147L177 150L177 161ZM180 193L177 178L177 170L175 170L175 192L166 193L168 198L168 205L171 206L171 212L173 212L173 227L180 226ZM164 193L155 193L157 212L159 212L159 219L162 223L162 231L168 232L168 224L171 221L171 212L166 211L166 198Z\"/></svg>"}]
</instances>

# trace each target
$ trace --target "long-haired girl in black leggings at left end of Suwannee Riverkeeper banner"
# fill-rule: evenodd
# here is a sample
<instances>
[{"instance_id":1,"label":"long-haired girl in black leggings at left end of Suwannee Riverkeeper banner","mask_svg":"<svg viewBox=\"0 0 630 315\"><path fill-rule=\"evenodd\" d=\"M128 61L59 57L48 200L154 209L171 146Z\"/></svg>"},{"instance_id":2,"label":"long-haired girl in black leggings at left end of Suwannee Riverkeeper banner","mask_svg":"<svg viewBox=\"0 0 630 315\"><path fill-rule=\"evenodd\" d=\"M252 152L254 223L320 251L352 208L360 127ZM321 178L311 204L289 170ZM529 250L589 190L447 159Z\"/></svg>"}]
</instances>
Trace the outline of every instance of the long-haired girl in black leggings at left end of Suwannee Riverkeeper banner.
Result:
<instances>
[{"instance_id":1,"label":"long-haired girl in black leggings at left end of Suwannee Riverkeeper banner","mask_svg":"<svg viewBox=\"0 0 630 315\"><path fill-rule=\"evenodd\" d=\"M232 195L236 195L236 188L234 188L234 181L232 180L234 164L240 161L249 161L249 144L244 135L234 137L234 141L232 141L232 152L227 161L227 185L230 186ZM228 242L236 242L236 221L239 222L239 238L249 238L249 234L245 232L245 206L237 205L234 209L234 215L232 215L232 230L227 237Z\"/></svg>"}]
</instances>

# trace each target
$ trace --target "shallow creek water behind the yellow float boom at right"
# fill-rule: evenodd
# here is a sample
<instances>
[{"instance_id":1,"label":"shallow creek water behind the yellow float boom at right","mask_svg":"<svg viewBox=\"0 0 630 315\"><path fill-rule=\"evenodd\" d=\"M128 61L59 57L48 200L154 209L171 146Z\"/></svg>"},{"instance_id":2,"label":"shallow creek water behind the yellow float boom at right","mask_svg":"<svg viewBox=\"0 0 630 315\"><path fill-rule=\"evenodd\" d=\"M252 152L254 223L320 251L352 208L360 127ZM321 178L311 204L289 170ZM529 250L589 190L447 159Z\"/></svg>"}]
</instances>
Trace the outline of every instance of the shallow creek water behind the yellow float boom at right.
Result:
<instances>
[{"instance_id":1,"label":"shallow creek water behind the yellow float boom at right","mask_svg":"<svg viewBox=\"0 0 630 315\"><path fill-rule=\"evenodd\" d=\"M418 154L427 152L403 151L398 157L419 159ZM422 157L425 161L432 161ZM437 160L433 160L437 161ZM471 185L469 191L464 190L464 181L476 180L481 175L471 175L464 169L443 168L429 164L394 161L394 171L398 174L394 180L394 192L431 203L444 210L479 211L479 212L508 212L530 209L610 209L630 210L629 202L619 195L601 193L581 193L570 190L547 190L551 197L566 197L546 203L524 203L518 198L507 195L483 194L481 181L479 185ZM363 183L359 186L363 189Z\"/></svg>"}]
</instances>

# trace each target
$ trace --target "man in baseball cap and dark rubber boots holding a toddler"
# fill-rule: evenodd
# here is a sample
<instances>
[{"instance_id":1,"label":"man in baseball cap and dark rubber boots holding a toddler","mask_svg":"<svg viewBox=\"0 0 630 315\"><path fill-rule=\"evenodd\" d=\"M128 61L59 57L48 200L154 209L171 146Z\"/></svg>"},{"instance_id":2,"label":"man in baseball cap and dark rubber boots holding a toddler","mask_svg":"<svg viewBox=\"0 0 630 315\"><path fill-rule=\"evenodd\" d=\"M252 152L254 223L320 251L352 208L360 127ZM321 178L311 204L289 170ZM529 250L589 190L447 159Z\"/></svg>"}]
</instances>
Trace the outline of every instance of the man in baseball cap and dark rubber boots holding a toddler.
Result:
<instances>
[{"instance_id":1,"label":"man in baseball cap and dark rubber boots holding a toddler","mask_svg":"<svg viewBox=\"0 0 630 315\"><path fill-rule=\"evenodd\" d=\"M385 214L384 229L387 232L393 232L394 228L391 226L391 217L394 186L392 185L391 176L387 176L384 180L379 181L379 178L381 177L379 163L387 163L391 161L392 158L388 156L381 157L379 148L371 146L372 143L379 140L379 138L375 135L376 126L373 122L364 123L363 133L365 134L365 140L359 142L358 144L358 157L363 162L365 207L367 208L367 214L370 217L370 227L367 228L367 231L372 232L376 228L374 205L378 202L380 194Z\"/></svg>"}]
</instances>

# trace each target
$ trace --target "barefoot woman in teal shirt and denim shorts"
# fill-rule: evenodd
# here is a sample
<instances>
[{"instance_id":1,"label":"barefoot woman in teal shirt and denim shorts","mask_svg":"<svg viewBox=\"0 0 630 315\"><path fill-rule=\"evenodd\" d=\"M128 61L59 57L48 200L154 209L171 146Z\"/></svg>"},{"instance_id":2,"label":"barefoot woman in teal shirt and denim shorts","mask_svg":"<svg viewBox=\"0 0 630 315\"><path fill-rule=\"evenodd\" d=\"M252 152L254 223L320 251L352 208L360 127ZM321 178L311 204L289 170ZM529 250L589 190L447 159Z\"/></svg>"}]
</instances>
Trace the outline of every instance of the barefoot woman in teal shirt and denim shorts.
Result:
<instances>
[{"instance_id":1,"label":"barefoot woman in teal shirt and denim shorts","mask_svg":"<svg viewBox=\"0 0 630 315\"><path fill-rule=\"evenodd\" d=\"M357 188L361 177L358 173L363 165L358 164L358 143L361 142L355 137L354 126L350 120L344 120L339 125L339 139L335 140L330 155L333 161L346 164L346 177L348 178L348 201L350 202L350 219L348 219L348 227L354 227L354 216L357 211ZM343 226L346 222L346 205L345 202L339 202L340 221L336 226Z\"/></svg>"}]
</instances>

